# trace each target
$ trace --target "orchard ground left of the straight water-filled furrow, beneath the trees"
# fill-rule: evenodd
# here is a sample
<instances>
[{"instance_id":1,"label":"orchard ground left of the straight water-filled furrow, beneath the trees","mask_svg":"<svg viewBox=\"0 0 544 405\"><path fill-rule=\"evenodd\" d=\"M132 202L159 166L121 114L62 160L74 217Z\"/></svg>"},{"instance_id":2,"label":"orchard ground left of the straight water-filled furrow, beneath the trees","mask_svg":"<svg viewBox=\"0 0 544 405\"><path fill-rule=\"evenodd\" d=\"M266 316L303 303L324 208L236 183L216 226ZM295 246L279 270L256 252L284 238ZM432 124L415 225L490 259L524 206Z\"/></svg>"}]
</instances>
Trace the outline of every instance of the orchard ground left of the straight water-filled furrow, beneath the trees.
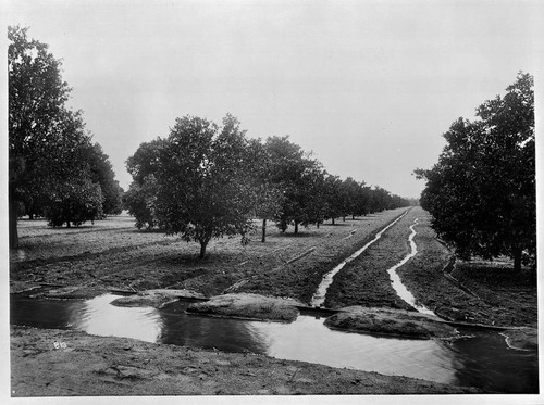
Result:
<instances>
[{"instance_id":1,"label":"orchard ground left of the straight water-filled furrow, beneath the trees","mask_svg":"<svg viewBox=\"0 0 544 405\"><path fill-rule=\"evenodd\" d=\"M91 298L111 289L136 292L163 288L213 296L231 288L231 292L289 296L309 303L331 266L405 211L324 224L319 229L302 228L298 235L289 230L282 233L271 225L265 243L260 242L259 232L247 246L236 238L213 240L203 260L198 260L197 243L138 231L128 216L57 229L45 220L21 220L21 249L10 256L10 289L16 292L50 283L70 287L66 298Z\"/></svg>"}]
</instances>

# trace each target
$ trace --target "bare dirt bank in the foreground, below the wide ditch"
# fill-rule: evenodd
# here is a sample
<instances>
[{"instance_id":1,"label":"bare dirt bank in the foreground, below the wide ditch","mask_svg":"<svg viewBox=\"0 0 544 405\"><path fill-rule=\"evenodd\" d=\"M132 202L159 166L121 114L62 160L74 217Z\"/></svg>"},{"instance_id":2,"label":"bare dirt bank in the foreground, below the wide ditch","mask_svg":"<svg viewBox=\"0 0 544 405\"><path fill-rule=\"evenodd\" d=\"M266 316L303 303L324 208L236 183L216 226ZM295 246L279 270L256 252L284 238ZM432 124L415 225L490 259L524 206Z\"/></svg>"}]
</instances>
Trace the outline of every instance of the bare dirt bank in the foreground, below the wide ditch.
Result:
<instances>
[{"instance_id":1,"label":"bare dirt bank in the foreground, below the wide ditch","mask_svg":"<svg viewBox=\"0 0 544 405\"><path fill-rule=\"evenodd\" d=\"M75 331L12 327L11 337L12 396L481 393L376 372Z\"/></svg>"}]
</instances>

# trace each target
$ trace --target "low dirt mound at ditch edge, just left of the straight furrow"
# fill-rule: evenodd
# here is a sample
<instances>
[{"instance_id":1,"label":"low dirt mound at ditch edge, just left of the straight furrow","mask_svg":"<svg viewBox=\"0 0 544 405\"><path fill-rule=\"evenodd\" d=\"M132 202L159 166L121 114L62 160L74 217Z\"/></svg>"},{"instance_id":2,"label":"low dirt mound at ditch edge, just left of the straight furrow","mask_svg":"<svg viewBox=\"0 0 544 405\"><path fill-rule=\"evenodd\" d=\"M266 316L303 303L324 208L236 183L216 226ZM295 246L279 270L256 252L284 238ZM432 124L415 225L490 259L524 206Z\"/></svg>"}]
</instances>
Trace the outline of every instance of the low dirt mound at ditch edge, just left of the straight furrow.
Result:
<instances>
[{"instance_id":1,"label":"low dirt mound at ditch edge, just left of the straight furrow","mask_svg":"<svg viewBox=\"0 0 544 405\"><path fill-rule=\"evenodd\" d=\"M218 295L207 302L190 304L187 307L187 312L213 316L292 322L299 314L296 305L302 304L293 299L276 299L259 294L239 293Z\"/></svg>"}]
</instances>

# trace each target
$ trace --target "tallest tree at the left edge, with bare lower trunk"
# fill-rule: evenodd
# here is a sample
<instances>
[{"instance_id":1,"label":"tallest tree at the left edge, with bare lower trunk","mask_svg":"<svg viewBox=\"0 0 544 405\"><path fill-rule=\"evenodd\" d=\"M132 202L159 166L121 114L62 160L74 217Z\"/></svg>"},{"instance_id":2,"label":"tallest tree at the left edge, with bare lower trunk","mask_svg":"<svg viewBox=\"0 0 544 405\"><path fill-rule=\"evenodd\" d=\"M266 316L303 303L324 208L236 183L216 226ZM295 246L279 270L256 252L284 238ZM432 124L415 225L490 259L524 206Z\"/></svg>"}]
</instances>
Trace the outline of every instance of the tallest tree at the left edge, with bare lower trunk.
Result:
<instances>
[{"instance_id":1,"label":"tallest tree at the left edge, with bare lower trunk","mask_svg":"<svg viewBox=\"0 0 544 405\"><path fill-rule=\"evenodd\" d=\"M32 200L30 181L42 186L42 163L58 143L70 88L60 62L47 45L28 40L27 28L9 27L8 39L10 246L17 248L18 202Z\"/></svg>"}]
</instances>

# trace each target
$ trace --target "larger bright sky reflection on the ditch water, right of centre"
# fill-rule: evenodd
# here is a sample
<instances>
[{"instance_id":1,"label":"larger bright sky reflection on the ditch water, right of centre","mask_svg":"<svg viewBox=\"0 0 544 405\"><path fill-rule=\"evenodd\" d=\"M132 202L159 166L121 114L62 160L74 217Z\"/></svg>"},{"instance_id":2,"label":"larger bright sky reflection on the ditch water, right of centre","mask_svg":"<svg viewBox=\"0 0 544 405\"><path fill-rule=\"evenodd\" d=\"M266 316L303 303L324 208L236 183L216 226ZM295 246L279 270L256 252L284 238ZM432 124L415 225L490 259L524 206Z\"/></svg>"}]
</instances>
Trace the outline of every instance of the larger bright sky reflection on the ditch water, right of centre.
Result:
<instances>
[{"instance_id":1,"label":"larger bright sky reflection on the ditch water, right of centre","mask_svg":"<svg viewBox=\"0 0 544 405\"><path fill-rule=\"evenodd\" d=\"M273 357L456 383L453 359L440 341L345 333L323 320L300 316L290 325L255 322L251 328L268 337L267 354Z\"/></svg>"}]
</instances>

